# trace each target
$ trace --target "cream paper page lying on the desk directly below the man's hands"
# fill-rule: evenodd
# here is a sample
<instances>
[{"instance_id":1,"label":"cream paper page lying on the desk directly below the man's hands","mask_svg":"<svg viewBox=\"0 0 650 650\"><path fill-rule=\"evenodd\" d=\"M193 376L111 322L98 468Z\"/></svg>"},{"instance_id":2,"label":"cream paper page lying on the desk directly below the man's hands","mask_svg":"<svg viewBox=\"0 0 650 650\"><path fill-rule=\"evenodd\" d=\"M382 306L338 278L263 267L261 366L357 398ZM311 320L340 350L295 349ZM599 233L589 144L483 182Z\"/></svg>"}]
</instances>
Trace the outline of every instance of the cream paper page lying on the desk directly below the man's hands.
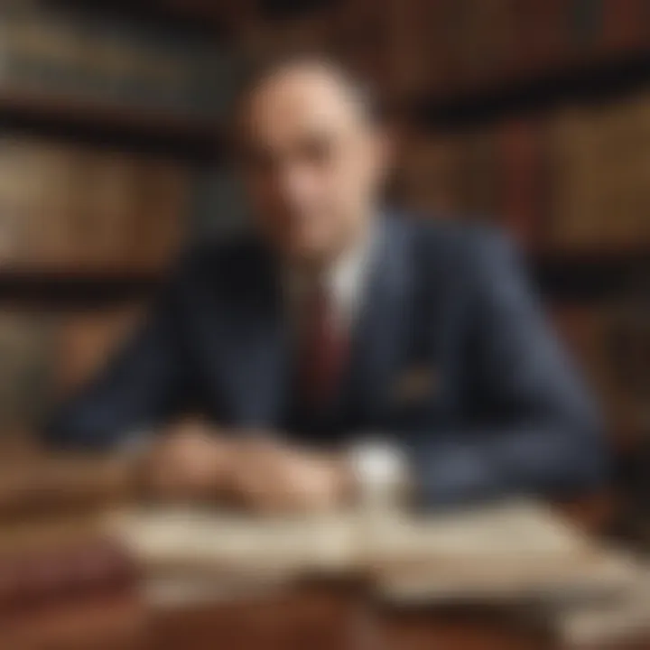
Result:
<instances>
[{"instance_id":1,"label":"cream paper page lying on the desk directly below the man's hands","mask_svg":"<svg viewBox=\"0 0 650 650\"><path fill-rule=\"evenodd\" d=\"M200 509L135 510L109 529L145 565L216 571L346 571L357 549L350 515L256 518Z\"/></svg>"}]
</instances>

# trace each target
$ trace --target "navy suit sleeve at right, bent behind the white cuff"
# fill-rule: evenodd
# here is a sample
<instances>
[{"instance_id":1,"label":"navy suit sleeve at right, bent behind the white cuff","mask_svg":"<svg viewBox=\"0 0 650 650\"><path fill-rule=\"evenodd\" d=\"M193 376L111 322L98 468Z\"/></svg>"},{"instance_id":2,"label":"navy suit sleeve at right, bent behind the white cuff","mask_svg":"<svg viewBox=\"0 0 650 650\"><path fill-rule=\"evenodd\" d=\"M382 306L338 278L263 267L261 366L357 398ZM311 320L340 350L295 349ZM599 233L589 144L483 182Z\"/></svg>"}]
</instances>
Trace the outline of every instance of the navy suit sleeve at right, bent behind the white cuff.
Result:
<instances>
[{"instance_id":1,"label":"navy suit sleeve at right, bent behind the white cuff","mask_svg":"<svg viewBox=\"0 0 650 650\"><path fill-rule=\"evenodd\" d=\"M547 326L513 246L490 237L468 262L464 373L471 413L457 431L406 435L425 505L510 494L572 496L604 484L599 415Z\"/></svg>"}]
</instances>

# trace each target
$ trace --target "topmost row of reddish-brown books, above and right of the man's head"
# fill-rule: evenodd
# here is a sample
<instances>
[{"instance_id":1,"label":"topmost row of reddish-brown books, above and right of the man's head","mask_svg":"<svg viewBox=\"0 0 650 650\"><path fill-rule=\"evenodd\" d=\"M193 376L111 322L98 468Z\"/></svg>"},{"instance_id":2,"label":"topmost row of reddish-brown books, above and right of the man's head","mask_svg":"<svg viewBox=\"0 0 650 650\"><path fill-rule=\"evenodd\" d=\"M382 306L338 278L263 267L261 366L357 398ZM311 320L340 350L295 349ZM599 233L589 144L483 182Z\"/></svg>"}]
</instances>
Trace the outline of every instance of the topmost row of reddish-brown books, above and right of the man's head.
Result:
<instances>
[{"instance_id":1,"label":"topmost row of reddish-brown books, above and right of the man's head","mask_svg":"<svg viewBox=\"0 0 650 650\"><path fill-rule=\"evenodd\" d=\"M348 0L248 33L329 49L400 95L459 92L648 48L645 0Z\"/></svg>"}]
</instances>

